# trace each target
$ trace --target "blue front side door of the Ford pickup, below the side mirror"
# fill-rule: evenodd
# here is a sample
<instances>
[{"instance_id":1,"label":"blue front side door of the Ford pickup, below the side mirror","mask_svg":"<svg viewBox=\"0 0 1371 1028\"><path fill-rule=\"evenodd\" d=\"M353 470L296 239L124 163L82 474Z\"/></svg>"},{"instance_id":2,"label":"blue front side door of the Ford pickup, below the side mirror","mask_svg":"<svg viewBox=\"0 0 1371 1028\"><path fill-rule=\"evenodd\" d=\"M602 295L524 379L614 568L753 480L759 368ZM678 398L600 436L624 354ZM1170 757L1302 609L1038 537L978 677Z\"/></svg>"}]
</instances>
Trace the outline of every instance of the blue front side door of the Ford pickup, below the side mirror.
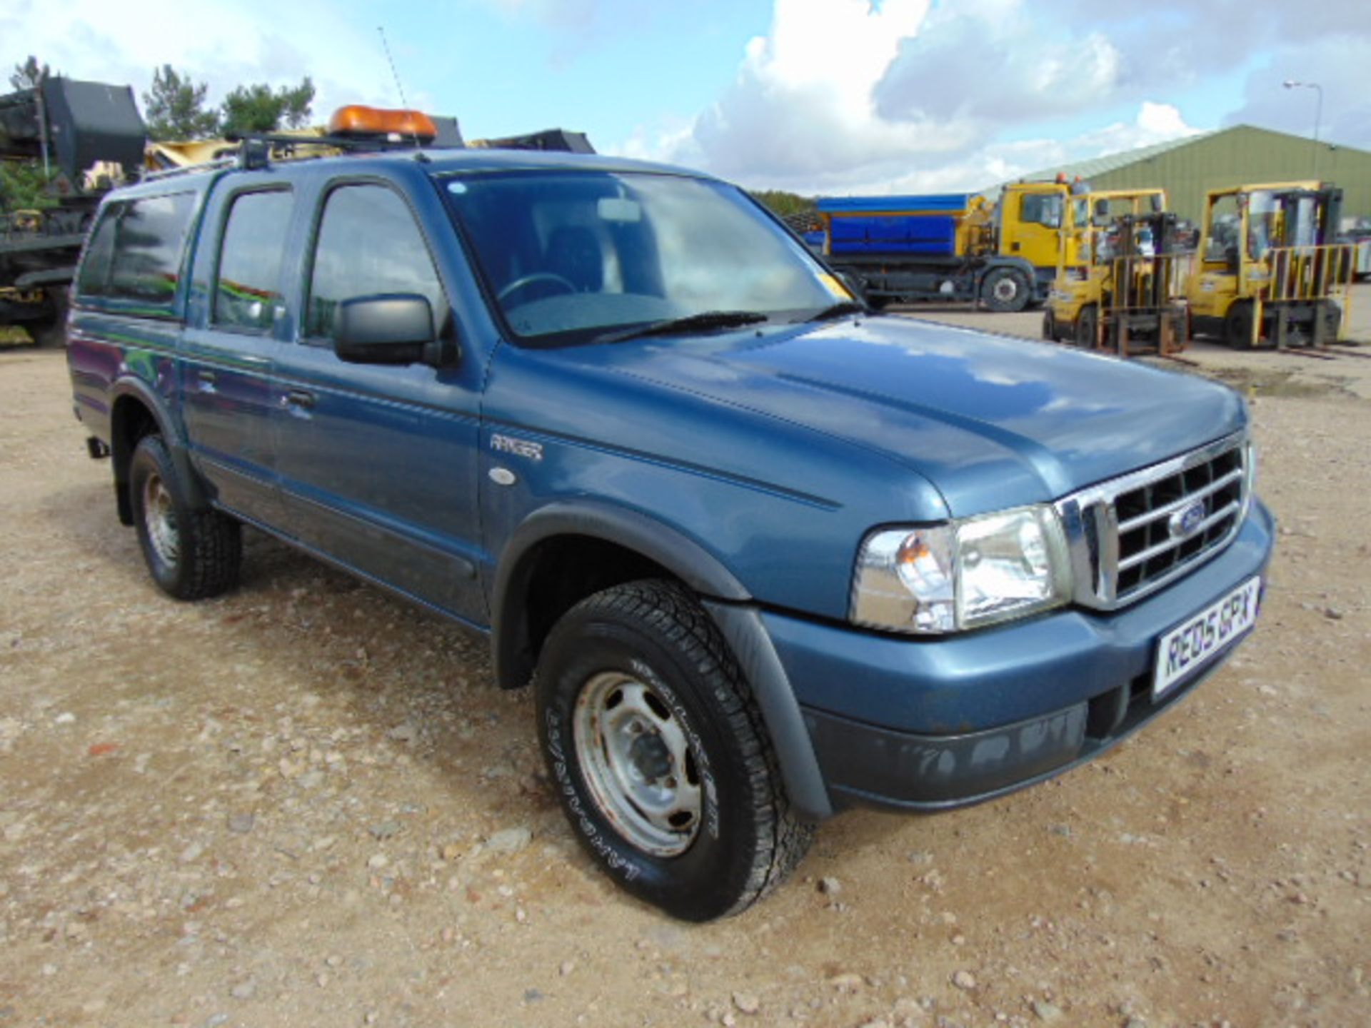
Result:
<instances>
[{"instance_id":1,"label":"blue front side door of the Ford pickup, below the side mirror","mask_svg":"<svg viewBox=\"0 0 1371 1028\"><path fill-rule=\"evenodd\" d=\"M276 362L288 530L367 577L484 624L474 548L478 376L347 363L333 352L337 304L358 296L418 293L439 330L452 330L432 240L404 195L378 181L330 182L315 218L300 337Z\"/></svg>"}]
</instances>

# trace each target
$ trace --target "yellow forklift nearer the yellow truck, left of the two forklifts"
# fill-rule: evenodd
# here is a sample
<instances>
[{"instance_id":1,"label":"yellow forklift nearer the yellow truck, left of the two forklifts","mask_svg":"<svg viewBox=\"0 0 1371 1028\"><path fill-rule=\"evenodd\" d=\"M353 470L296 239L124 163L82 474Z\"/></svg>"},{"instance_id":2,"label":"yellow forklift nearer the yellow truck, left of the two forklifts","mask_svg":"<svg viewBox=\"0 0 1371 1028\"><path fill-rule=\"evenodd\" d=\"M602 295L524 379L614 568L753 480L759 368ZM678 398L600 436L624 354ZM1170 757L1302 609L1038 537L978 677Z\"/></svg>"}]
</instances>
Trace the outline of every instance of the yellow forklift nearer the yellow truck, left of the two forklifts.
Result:
<instances>
[{"instance_id":1,"label":"yellow forklift nearer the yellow truck, left of the two forklifts","mask_svg":"<svg viewBox=\"0 0 1371 1028\"><path fill-rule=\"evenodd\" d=\"M1161 189L1106 191L1073 197L1075 238L1063 243L1043 339L1120 356L1185 350L1186 310L1176 297L1185 256L1176 215Z\"/></svg>"}]
</instances>

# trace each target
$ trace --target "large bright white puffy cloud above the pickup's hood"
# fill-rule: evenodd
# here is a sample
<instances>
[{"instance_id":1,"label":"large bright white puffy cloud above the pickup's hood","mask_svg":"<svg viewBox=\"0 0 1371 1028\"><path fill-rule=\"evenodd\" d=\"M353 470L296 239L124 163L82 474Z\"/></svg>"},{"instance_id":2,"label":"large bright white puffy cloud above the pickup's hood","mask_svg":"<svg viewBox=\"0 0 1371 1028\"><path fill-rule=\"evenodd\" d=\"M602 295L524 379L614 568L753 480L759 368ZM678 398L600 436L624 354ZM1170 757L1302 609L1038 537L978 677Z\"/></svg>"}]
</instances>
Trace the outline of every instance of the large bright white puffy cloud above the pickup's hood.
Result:
<instances>
[{"instance_id":1,"label":"large bright white puffy cloud above the pickup's hood","mask_svg":"<svg viewBox=\"0 0 1371 1028\"><path fill-rule=\"evenodd\" d=\"M1006 126L1098 104L1121 77L1104 36L1028 45L1023 0L776 0L735 81L692 121L616 151L698 166L751 186L858 193L957 191L1191 132L1174 107L1094 140L1001 143ZM972 56L975 59L972 59Z\"/></svg>"}]
</instances>

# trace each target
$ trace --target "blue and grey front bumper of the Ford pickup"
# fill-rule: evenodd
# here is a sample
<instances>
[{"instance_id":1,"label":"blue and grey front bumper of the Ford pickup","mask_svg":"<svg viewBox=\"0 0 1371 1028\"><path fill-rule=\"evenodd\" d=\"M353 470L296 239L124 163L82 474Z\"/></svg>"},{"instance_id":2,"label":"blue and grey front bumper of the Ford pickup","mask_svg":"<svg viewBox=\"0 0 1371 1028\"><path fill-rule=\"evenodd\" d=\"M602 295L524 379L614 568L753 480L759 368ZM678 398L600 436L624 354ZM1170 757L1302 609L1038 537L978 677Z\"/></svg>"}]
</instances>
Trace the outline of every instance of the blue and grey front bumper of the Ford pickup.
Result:
<instances>
[{"instance_id":1,"label":"blue and grey front bumper of the Ford pickup","mask_svg":"<svg viewBox=\"0 0 1371 1028\"><path fill-rule=\"evenodd\" d=\"M1152 699L1157 640L1253 574L1275 524L1253 502L1219 555L1112 614L1065 610L923 640L766 614L835 807L979 803L1104 752L1212 674Z\"/></svg>"}]
</instances>

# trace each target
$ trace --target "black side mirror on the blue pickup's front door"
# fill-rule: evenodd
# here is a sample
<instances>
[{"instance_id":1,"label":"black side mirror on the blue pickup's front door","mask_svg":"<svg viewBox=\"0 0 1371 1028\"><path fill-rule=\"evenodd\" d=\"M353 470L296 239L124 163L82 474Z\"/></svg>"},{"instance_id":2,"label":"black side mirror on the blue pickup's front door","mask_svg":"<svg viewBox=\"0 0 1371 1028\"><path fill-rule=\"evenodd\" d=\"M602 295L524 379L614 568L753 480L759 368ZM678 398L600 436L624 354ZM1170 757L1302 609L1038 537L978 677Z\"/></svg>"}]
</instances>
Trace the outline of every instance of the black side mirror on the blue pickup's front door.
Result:
<instances>
[{"instance_id":1,"label":"black side mirror on the blue pickup's front door","mask_svg":"<svg viewBox=\"0 0 1371 1028\"><path fill-rule=\"evenodd\" d=\"M454 344L437 339L433 308L418 293L343 300L333 315L333 352L355 365L446 365Z\"/></svg>"}]
</instances>

